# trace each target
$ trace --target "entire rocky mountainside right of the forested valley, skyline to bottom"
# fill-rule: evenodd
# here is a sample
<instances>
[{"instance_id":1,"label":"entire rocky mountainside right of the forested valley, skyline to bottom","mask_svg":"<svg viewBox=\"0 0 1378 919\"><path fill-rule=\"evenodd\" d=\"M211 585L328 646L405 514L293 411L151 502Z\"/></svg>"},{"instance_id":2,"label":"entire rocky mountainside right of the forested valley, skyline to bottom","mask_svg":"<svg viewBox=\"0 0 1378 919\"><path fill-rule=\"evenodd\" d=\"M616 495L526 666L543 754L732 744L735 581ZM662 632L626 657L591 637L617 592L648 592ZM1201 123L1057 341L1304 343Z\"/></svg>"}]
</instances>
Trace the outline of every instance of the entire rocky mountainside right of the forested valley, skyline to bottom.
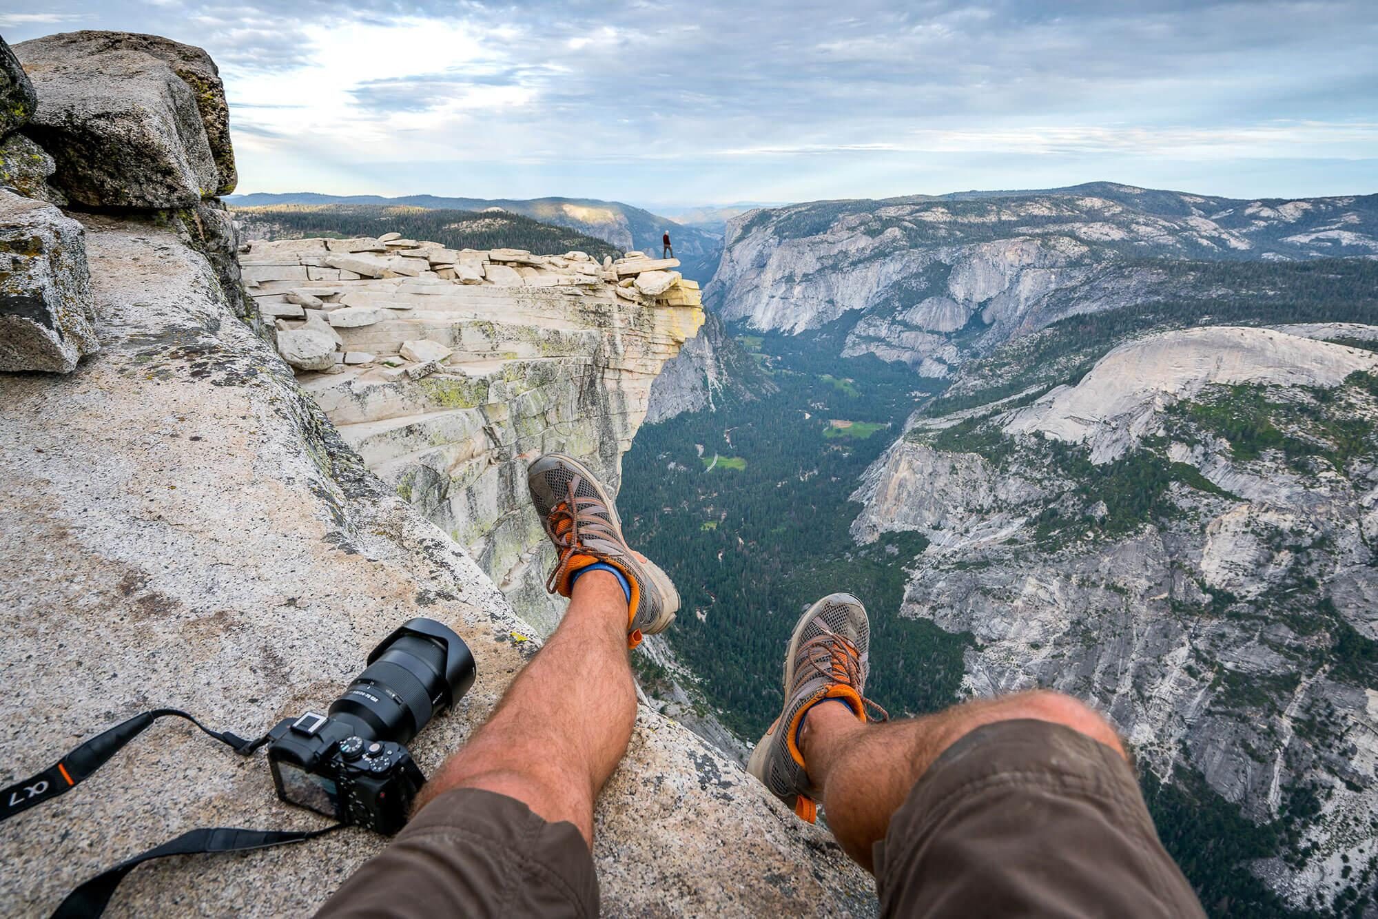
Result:
<instances>
[{"instance_id":1,"label":"entire rocky mountainside right of the forested valley, skyline to bottom","mask_svg":"<svg viewBox=\"0 0 1378 919\"><path fill-rule=\"evenodd\" d=\"M966 693L1104 707L1200 814L1170 829L1203 889L1348 912L1378 882L1375 252L1375 196L832 201L733 219L704 299L951 379L853 493L857 540L929 540L900 615L970 634ZM1240 817L1247 856L1200 839Z\"/></svg>"}]
</instances>

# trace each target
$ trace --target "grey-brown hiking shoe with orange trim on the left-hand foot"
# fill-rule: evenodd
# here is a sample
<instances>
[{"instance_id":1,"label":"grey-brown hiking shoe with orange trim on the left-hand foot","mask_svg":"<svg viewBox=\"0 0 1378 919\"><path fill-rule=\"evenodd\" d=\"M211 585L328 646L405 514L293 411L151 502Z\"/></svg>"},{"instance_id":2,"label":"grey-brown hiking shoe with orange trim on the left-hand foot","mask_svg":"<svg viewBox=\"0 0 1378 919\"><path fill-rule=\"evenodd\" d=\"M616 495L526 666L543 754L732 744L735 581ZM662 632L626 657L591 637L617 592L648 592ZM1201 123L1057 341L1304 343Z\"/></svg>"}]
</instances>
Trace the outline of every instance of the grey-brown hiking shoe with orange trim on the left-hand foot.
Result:
<instances>
[{"instance_id":1,"label":"grey-brown hiking shoe with orange trim on the left-hand foot","mask_svg":"<svg viewBox=\"0 0 1378 919\"><path fill-rule=\"evenodd\" d=\"M631 586L627 646L639 645L642 635L664 631L679 609L679 591L668 575L627 546L617 508L594 474L564 453L547 453L526 470L526 484L546 536L559 553L546 590L569 597L572 575L606 562Z\"/></svg>"}]
</instances>

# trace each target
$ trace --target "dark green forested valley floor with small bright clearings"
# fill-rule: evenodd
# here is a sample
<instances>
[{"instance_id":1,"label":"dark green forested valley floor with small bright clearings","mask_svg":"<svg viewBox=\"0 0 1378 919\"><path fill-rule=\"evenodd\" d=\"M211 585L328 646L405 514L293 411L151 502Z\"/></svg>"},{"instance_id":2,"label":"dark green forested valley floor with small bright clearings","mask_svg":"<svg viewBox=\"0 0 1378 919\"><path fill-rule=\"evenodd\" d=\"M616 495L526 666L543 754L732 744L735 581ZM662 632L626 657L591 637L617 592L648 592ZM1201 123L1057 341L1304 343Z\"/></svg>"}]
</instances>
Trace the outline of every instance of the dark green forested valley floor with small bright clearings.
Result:
<instances>
[{"instance_id":1,"label":"dark green forested valley floor with small bright clearings","mask_svg":"<svg viewBox=\"0 0 1378 919\"><path fill-rule=\"evenodd\" d=\"M847 535L857 478L943 383L871 355L839 358L827 331L737 340L779 391L642 427L623 459L628 539L682 597L677 654L719 719L755 739L780 714L781 654L799 613L846 591L871 613L868 693L894 714L943 708L967 639L897 616L904 562L925 537L858 547Z\"/></svg>"}]
</instances>

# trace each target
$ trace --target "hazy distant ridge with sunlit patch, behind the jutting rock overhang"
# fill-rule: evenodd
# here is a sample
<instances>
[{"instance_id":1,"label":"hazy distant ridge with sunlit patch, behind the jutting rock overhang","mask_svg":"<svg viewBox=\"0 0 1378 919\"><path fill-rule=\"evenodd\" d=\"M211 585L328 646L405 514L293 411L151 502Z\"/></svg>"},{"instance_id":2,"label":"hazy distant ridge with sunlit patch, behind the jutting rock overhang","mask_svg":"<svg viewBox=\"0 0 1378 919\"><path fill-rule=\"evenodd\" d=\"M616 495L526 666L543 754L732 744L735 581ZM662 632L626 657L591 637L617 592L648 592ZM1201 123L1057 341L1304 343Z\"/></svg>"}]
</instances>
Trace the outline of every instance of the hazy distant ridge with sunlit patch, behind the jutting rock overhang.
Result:
<instances>
[{"instance_id":1,"label":"hazy distant ridge with sunlit patch, behind the jutting rock overhang","mask_svg":"<svg viewBox=\"0 0 1378 919\"><path fill-rule=\"evenodd\" d=\"M641 249L659 258L660 237L670 231L675 247L675 258L681 262L681 273L707 284L718 266L722 241L718 236L700 229L683 226L667 216L660 216L620 201L599 201L597 198L459 198L435 194L408 194L389 198L378 194L320 194L316 192L291 192L285 194L232 194L225 198L230 207L270 207L281 204L380 204L455 211L485 211L502 208L543 223L565 226L580 233L606 240L621 251Z\"/></svg>"}]
</instances>

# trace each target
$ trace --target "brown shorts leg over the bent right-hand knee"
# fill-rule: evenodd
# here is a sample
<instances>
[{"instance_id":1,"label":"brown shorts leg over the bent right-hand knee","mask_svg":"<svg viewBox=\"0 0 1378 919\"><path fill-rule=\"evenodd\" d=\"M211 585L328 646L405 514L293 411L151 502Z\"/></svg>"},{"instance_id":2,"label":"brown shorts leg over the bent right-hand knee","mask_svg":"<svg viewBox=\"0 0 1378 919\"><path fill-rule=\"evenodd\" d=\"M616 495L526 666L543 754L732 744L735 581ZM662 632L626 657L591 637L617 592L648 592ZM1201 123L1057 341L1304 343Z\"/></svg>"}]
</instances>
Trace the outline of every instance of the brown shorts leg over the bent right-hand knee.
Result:
<instances>
[{"instance_id":1,"label":"brown shorts leg over the bent right-hand knee","mask_svg":"<svg viewBox=\"0 0 1378 919\"><path fill-rule=\"evenodd\" d=\"M952 744L871 854L883 916L1204 916L1130 765L1045 721Z\"/></svg>"}]
</instances>

